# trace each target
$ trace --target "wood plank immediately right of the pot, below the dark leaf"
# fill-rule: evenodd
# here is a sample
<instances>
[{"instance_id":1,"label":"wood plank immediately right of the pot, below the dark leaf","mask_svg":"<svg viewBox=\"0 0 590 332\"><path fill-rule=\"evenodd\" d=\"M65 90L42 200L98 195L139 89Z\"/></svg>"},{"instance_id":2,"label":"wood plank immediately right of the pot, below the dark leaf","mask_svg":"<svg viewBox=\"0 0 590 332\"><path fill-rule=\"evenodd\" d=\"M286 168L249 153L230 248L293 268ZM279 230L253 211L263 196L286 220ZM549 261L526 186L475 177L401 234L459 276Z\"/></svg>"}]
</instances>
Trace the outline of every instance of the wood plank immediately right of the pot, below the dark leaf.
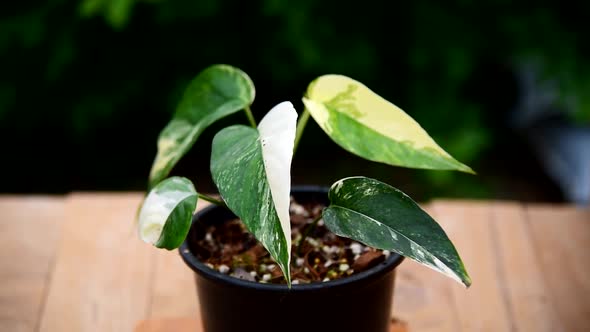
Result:
<instances>
[{"instance_id":1,"label":"wood plank immediately right of the pot, below the dark leaf","mask_svg":"<svg viewBox=\"0 0 590 332\"><path fill-rule=\"evenodd\" d=\"M430 206L422 206L434 215ZM449 236L455 236L450 234ZM411 331L455 332L459 320L451 291L453 281L409 259L397 268L392 317Z\"/></svg>"}]
</instances>

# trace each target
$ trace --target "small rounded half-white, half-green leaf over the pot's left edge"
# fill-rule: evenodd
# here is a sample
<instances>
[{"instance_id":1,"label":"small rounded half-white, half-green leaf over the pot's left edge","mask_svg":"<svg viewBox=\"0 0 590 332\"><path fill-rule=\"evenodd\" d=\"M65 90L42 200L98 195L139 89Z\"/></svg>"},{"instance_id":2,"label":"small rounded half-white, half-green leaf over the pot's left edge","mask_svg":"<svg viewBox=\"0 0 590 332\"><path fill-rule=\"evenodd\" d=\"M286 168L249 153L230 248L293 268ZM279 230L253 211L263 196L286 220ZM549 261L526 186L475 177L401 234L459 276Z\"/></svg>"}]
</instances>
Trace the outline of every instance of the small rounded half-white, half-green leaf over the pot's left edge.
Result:
<instances>
[{"instance_id":1,"label":"small rounded half-white, half-green leaf over the pot's left edge","mask_svg":"<svg viewBox=\"0 0 590 332\"><path fill-rule=\"evenodd\" d=\"M191 226L197 207L197 191L192 182L171 177L156 185L139 211L139 236L158 248L178 248Z\"/></svg>"}]
</instances>

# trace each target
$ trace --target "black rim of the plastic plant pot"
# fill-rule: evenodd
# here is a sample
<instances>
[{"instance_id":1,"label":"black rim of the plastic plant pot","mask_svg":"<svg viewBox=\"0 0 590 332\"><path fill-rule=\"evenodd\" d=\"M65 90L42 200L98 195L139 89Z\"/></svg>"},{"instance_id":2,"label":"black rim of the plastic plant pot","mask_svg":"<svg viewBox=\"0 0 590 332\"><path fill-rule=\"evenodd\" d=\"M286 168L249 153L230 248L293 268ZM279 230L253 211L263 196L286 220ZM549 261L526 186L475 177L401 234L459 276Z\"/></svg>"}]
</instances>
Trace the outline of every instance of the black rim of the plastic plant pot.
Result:
<instances>
[{"instance_id":1,"label":"black rim of the plastic plant pot","mask_svg":"<svg viewBox=\"0 0 590 332\"><path fill-rule=\"evenodd\" d=\"M307 188L306 188L307 189ZM194 216L191 223L194 225L195 221L206 215L210 211L214 209L223 209L222 207L216 205L210 205L202 210L198 211ZM349 286L361 280L373 280L378 279L381 276L386 275L389 271L396 268L403 260L404 257L395 253L391 252L389 257L385 259L384 262L368 269L360 273L355 273L351 276L340 278L336 280L330 280L326 282L314 282L309 284L292 284L291 288L289 289L286 284L271 284L271 283L259 283L254 281L243 280L239 278L232 277L227 274L223 274L216 270L211 269L203 262L201 262L193 253L191 252L189 245L188 245L188 237L182 243L182 245L178 248L180 255L184 262L198 275L217 281L219 283L225 284L227 286L234 286L234 287L241 287L241 288L250 288L257 291L273 291L273 292L295 292L295 293L304 293L304 292L312 292L318 291L325 288L339 288L344 286Z\"/></svg>"}]
</instances>

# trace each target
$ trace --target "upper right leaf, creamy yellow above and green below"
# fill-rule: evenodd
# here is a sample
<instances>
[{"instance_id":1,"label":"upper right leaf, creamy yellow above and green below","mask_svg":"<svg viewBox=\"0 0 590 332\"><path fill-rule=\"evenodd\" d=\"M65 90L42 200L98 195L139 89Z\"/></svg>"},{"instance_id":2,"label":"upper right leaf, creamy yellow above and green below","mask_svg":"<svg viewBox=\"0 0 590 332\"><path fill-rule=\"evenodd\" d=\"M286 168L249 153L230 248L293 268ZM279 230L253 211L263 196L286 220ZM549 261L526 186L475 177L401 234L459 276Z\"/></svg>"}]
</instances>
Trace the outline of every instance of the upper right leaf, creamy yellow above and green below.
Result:
<instances>
[{"instance_id":1,"label":"upper right leaf, creamy yellow above and green below","mask_svg":"<svg viewBox=\"0 0 590 332\"><path fill-rule=\"evenodd\" d=\"M321 76L309 85L303 102L334 142L360 157L394 166L473 173L404 111L351 78Z\"/></svg>"}]
</instances>

